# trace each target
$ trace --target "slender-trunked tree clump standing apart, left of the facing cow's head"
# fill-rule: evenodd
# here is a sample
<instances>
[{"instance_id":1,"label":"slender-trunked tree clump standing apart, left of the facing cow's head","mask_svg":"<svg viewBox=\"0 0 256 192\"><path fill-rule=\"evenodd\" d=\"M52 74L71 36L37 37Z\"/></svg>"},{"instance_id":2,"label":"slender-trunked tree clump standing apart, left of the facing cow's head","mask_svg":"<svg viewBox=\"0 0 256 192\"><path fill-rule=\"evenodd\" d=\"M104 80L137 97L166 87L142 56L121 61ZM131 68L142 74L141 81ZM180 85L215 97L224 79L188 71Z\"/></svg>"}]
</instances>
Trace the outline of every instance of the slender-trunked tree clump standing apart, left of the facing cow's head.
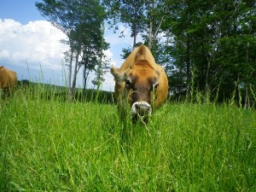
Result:
<instances>
[{"instance_id":1,"label":"slender-trunked tree clump standing apart, left of the facing cow's head","mask_svg":"<svg viewBox=\"0 0 256 192\"><path fill-rule=\"evenodd\" d=\"M86 74L84 84L86 84L88 71L96 69L102 57L102 49L108 49L104 39L98 38L102 33L104 9L99 0L44 0L43 3L36 3L36 7L49 22L67 35L67 44L70 46L68 53L70 98L76 86L80 67L84 67ZM75 64L72 84L73 61Z\"/></svg>"}]
</instances>

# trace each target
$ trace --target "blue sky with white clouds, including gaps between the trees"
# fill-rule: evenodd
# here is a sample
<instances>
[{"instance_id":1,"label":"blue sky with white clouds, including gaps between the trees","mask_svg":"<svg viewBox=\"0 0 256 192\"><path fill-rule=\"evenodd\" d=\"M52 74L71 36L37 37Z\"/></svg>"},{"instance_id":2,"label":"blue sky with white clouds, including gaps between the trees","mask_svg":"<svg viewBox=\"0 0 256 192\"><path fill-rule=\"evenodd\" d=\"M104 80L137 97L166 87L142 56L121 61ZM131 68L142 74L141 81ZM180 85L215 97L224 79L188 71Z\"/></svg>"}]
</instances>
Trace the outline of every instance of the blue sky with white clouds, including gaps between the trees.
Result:
<instances>
[{"instance_id":1,"label":"blue sky with white clouds, including gaps between the trees","mask_svg":"<svg viewBox=\"0 0 256 192\"><path fill-rule=\"evenodd\" d=\"M40 15L35 2L41 1L0 1L0 66L14 70L19 80L67 85L63 52L68 46L60 43L67 37ZM125 26L120 24L119 32L124 29ZM125 38L119 38L119 32L113 33L106 27L104 37L110 44L105 55L116 67L124 62L120 56L122 49L132 44L129 29L125 29ZM82 77L82 72L79 72L77 87L83 86ZM89 81L94 77L92 72ZM102 90L113 91L113 76L108 72L104 79ZM87 88L93 88L93 85L88 83Z\"/></svg>"}]
</instances>

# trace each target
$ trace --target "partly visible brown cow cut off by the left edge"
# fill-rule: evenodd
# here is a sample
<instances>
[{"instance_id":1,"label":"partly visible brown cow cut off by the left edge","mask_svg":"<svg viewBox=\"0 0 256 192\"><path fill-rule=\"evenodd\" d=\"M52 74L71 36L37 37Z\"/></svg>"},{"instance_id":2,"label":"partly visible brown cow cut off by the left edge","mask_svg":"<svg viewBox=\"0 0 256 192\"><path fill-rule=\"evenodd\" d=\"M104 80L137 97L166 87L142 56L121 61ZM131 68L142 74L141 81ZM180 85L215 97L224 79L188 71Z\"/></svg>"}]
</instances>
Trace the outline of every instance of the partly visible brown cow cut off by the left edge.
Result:
<instances>
[{"instance_id":1,"label":"partly visible brown cow cut off by the left edge","mask_svg":"<svg viewBox=\"0 0 256 192\"><path fill-rule=\"evenodd\" d=\"M17 84L17 73L6 67L0 67L0 89L13 90Z\"/></svg>"}]
</instances>

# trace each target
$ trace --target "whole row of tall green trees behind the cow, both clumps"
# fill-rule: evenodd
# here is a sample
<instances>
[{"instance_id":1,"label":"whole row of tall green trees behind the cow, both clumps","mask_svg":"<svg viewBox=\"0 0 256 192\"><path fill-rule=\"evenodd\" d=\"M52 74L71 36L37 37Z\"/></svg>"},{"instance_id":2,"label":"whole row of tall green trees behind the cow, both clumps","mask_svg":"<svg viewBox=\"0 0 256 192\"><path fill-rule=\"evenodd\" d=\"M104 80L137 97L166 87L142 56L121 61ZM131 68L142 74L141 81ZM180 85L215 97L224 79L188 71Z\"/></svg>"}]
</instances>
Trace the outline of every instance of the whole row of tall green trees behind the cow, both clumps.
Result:
<instances>
[{"instance_id":1,"label":"whole row of tall green trees behind the cow, both clumps","mask_svg":"<svg viewBox=\"0 0 256 192\"><path fill-rule=\"evenodd\" d=\"M76 74L96 72L94 84L104 80L109 62L103 50L104 21L118 29L131 29L133 46L151 49L169 79L170 94L177 101L240 100L244 108L256 101L256 3L254 0L44 0L36 7L67 35L70 50L70 92ZM121 32L121 34L123 33ZM138 42L138 37L143 42ZM140 38L141 39L141 38ZM72 72L74 66L74 72ZM72 76L73 73L73 76ZM71 77L73 77L73 83Z\"/></svg>"}]
</instances>

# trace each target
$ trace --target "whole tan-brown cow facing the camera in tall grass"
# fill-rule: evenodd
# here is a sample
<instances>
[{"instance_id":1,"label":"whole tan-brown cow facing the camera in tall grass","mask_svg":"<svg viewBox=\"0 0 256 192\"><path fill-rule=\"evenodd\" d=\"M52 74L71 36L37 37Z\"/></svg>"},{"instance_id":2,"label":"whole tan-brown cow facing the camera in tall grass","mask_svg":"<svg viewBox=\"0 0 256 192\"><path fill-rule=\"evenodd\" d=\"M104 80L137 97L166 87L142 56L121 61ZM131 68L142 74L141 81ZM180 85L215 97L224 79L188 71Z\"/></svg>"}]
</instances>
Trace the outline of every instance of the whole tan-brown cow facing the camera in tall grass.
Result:
<instances>
[{"instance_id":1,"label":"whole tan-brown cow facing the camera in tall grass","mask_svg":"<svg viewBox=\"0 0 256 192\"><path fill-rule=\"evenodd\" d=\"M138 117L147 120L153 108L166 102L168 79L165 70L155 63L145 45L134 49L121 67L111 67L110 72L115 81L114 96L121 118L125 118L128 108L135 121Z\"/></svg>"}]
</instances>

